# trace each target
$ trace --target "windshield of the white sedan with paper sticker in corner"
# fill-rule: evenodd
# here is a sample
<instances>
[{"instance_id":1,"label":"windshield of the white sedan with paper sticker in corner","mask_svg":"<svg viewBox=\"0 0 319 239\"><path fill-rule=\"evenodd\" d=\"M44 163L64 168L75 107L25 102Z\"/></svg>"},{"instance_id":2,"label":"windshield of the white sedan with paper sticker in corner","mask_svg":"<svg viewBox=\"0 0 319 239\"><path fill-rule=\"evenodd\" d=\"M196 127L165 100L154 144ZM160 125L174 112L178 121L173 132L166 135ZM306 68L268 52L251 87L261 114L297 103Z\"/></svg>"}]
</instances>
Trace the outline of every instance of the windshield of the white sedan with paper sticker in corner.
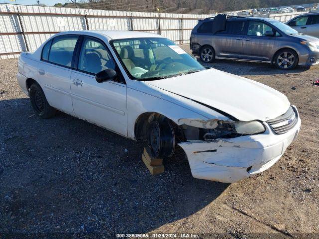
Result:
<instances>
[{"instance_id":1,"label":"windshield of the white sedan with paper sticker in corner","mask_svg":"<svg viewBox=\"0 0 319 239\"><path fill-rule=\"evenodd\" d=\"M121 39L112 44L126 70L136 80L157 80L205 70L166 38Z\"/></svg>"}]
</instances>

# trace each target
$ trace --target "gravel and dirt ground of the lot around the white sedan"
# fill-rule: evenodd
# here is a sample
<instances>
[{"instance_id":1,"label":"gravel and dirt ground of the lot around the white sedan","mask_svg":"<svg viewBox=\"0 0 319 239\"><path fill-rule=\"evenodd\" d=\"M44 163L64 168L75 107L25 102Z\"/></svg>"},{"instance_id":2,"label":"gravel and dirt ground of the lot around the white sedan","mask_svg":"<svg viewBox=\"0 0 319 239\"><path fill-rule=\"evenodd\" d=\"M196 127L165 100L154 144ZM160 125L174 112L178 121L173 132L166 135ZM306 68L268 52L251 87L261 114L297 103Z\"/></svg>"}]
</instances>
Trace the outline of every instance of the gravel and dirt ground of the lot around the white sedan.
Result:
<instances>
[{"instance_id":1,"label":"gravel and dirt ground of the lot around the white sedan","mask_svg":"<svg viewBox=\"0 0 319 239\"><path fill-rule=\"evenodd\" d=\"M302 119L298 139L272 168L231 185L192 178L180 154L151 176L142 145L62 113L39 119L16 82L17 60L1 60L0 238L319 237L319 87L311 85L319 66L211 66L281 91Z\"/></svg>"}]
</instances>

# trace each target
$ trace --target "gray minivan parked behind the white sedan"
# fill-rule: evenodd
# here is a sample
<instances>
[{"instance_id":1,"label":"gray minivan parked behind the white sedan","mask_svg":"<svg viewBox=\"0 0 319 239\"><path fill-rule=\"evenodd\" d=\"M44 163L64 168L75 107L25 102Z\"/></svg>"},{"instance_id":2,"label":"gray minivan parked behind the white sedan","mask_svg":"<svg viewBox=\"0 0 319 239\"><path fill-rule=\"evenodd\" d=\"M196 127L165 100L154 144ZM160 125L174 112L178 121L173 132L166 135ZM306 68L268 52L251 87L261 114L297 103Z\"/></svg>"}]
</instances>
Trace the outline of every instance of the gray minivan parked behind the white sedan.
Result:
<instances>
[{"instance_id":1,"label":"gray minivan parked behind the white sedan","mask_svg":"<svg viewBox=\"0 0 319 239\"><path fill-rule=\"evenodd\" d=\"M284 23L257 17L217 15L192 30L190 48L203 62L235 59L275 64L280 69L319 63L319 39Z\"/></svg>"}]
</instances>

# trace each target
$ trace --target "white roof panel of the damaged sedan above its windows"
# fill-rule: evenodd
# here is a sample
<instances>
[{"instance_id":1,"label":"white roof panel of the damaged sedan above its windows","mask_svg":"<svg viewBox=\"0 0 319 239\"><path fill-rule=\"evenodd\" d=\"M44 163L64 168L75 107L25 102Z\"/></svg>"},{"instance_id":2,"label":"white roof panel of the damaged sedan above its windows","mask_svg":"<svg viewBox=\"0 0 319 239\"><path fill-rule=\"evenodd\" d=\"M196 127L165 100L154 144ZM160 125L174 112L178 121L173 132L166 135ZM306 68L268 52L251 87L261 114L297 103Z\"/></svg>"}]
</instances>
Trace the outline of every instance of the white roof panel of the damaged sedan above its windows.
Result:
<instances>
[{"instance_id":1,"label":"white roof panel of the damaged sedan above its windows","mask_svg":"<svg viewBox=\"0 0 319 239\"><path fill-rule=\"evenodd\" d=\"M109 40L114 39L126 39L126 38L143 38L143 37L159 37L163 38L158 34L153 33L146 33L140 31L64 31L60 32L57 35L64 35L64 34L83 34L83 35L103 35L106 36Z\"/></svg>"}]
</instances>

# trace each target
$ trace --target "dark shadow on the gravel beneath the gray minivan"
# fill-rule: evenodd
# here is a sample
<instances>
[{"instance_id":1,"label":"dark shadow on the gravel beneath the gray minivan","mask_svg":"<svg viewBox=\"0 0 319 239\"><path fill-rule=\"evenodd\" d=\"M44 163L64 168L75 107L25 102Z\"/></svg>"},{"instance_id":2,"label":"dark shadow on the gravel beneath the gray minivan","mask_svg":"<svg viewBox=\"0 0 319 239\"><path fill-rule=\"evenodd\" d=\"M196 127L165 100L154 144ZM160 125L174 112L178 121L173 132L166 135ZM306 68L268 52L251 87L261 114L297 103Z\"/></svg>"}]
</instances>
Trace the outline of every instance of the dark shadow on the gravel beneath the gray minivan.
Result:
<instances>
[{"instance_id":1,"label":"dark shadow on the gravel beneath the gray minivan","mask_svg":"<svg viewBox=\"0 0 319 239\"><path fill-rule=\"evenodd\" d=\"M280 70L269 63L244 62L233 60L215 60L213 63L203 63L203 66L213 67L217 70L225 71L235 75L278 75L278 74L298 74L309 70L310 67L299 66L294 70Z\"/></svg>"}]
</instances>

